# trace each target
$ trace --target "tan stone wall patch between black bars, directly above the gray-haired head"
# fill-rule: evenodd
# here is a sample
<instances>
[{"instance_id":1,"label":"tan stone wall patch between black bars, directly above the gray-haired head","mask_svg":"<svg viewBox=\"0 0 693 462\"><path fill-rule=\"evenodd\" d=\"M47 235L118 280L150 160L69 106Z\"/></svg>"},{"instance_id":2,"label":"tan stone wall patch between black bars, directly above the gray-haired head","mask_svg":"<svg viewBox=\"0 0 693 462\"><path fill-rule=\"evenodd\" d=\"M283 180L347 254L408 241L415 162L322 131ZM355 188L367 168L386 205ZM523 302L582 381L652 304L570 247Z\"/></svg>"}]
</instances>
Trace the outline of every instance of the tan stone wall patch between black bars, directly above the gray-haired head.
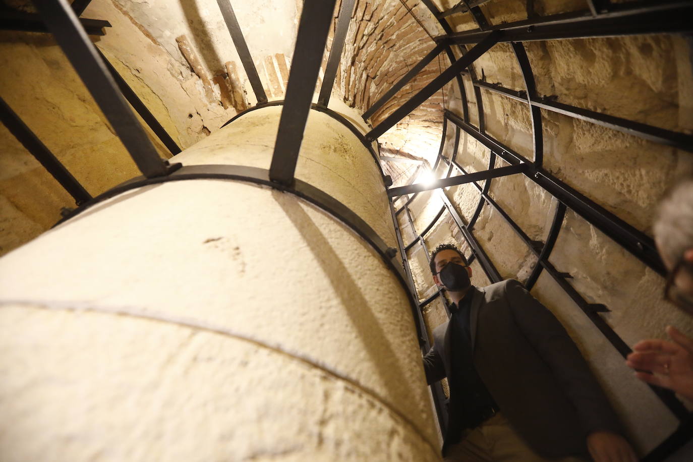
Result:
<instances>
[{"instance_id":1,"label":"tan stone wall patch between black bars, directly above the gray-haired head","mask_svg":"<svg viewBox=\"0 0 693 462\"><path fill-rule=\"evenodd\" d=\"M542 116L545 168L643 231L667 186L693 172L687 152L560 114Z\"/></svg>"}]
</instances>

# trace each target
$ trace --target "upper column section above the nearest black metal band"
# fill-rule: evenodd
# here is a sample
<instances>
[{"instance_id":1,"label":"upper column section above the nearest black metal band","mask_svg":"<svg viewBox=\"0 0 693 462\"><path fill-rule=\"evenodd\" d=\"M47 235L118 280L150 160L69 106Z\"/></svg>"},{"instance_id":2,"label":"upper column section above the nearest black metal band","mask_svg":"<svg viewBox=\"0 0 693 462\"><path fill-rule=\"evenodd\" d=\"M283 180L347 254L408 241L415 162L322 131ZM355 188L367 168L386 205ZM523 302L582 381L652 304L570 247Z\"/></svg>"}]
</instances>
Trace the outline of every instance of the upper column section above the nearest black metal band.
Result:
<instances>
[{"instance_id":1,"label":"upper column section above the nearest black metal band","mask_svg":"<svg viewBox=\"0 0 693 462\"><path fill-rule=\"evenodd\" d=\"M184 165L225 163L270 168L282 106L257 109L178 154ZM389 202L375 160L351 131L322 112L311 111L296 177L326 191L362 217L390 247L396 238Z\"/></svg>"}]
</instances>

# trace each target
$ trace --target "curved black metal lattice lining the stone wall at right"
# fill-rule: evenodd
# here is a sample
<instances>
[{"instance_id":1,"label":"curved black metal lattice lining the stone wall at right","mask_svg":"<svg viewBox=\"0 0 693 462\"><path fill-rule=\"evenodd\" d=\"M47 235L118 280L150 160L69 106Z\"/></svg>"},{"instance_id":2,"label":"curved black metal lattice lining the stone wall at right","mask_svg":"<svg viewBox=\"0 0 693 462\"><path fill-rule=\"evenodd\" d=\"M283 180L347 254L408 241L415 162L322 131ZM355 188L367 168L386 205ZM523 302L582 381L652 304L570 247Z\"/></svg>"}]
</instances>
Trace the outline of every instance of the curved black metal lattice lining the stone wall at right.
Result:
<instances>
[{"instance_id":1,"label":"curved black metal lattice lining the stone wall at right","mask_svg":"<svg viewBox=\"0 0 693 462\"><path fill-rule=\"evenodd\" d=\"M472 12L471 8L466 8L472 13L473 19L477 22L477 30L469 30L462 33L452 33L449 24L443 21L442 18L447 15L441 15L438 12L435 5L432 4L430 0L423 0L423 3L428 6L429 10L433 15L439 18L441 26L446 31L446 35L437 37L440 44L450 44L450 42L460 46L461 51L464 53L463 44L475 44L481 38L485 38L489 30L498 30L501 34L499 42L511 42L514 49L516 59L518 60L518 65L520 66L520 71L523 73L525 79L525 89L524 90L513 90L502 87L499 84L489 84L485 81L480 81L475 78L473 67L469 67L468 70L463 71L462 75L468 76L471 79L473 89L477 95L477 114L479 116L480 127L474 127L469 121L468 106L465 96L464 85L461 84L461 80L458 79L458 87L463 100L463 115L457 116L446 110L444 119L444 128L447 126L448 121L456 125L456 130L464 130L469 136L473 136L477 141L482 143L486 148L489 149L491 156L489 160L489 170L486 172L494 170L495 159L500 157L500 159L505 160L511 166L523 167L523 175L531 178L538 186L541 186L548 193L552 194L556 200L556 207L554 211L554 218L550 229L548 230L545 242L532 240L527 236L527 234L511 219L511 217L503 211L503 209L496 203L493 198L489 195L489 184L491 179L486 179L484 186L471 181L471 183L480 191L481 198L480 202L473 214L472 219L468 224L464 223L464 219L457 213L455 206L450 202L442 187L446 186L445 180L439 181L439 193L444 201L444 208L448 210L453 215L455 223L459 227L460 231L472 248L473 254L471 258L477 257L480 259L482 268L486 272L486 276L489 276L489 280L492 282L496 278L500 278L497 272L495 272L495 267L493 263L485 256L483 249L478 242L475 242L472 229L480 216L480 212L484 205L492 206L495 211L499 213L501 217L511 226L511 229L518 235L520 240L522 240L529 251L534 254L537 262L532 269L532 273L529 274L527 281L525 281L525 286L531 289L542 271L547 272L558 283L559 287L570 296L570 298L578 305L578 307L588 316L588 318L593 321L595 327L597 327L600 332L611 342L611 344L616 348L622 355L627 355L631 350L625 342L620 339L620 337L613 331L611 326L599 315L599 312L608 311L605 305L600 303L588 303L577 290L570 285L568 279L571 278L570 274L565 272L560 272L554 267L549 261L551 251L555 245L556 239L561 231L561 226L565 219L565 212L570 208L572 211L581 215L587 222L593 226L600 229L607 236L613 239L617 245L624 247L635 257L640 259L645 265L649 266L651 269L655 270L659 274L665 274L665 268L656 252L656 248L653 245L653 241L649 236L635 229L630 224L620 220L613 213L606 211L602 206L599 206L594 201L586 197L585 195L579 193L574 188L570 188L560 179L554 177L542 168L543 163L543 139L542 139L542 119L541 119L541 108L547 109L553 112L559 112L564 115L571 116L573 118L580 118L581 120L590 121L591 123L596 123L604 127L609 127L613 130L618 130L621 132L633 134L634 136L639 136L643 139L648 139L656 143L671 145L674 148L686 150L688 152L693 152L693 136L672 132L669 130L664 130L659 127L653 127L651 125L646 125L642 123L635 123L633 121L628 121L624 118L617 118L614 116L609 116L607 114L599 114L597 112L588 111L587 109L582 109L579 107L573 107L570 105L564 105L562 103L557 103L553 98L544 98L536 94L536 84L534 82L534 75L532 74L532 68L527 59L527 53L521 42L528 40L537 39L559 39L559 38L578 38L578 37L600 37L600 36L611 36L611 35L629 35L629 34L640 34L640 33L663 33L672 31L690 31L693 30L693 25L687 19L681 19L683 17L690 17L690 13L693 12L693 7L690 2L681 1L669 1L664 3L659 3L657 5L652 5L647 2L633 2L626 4L611 4L608 0L604 1L589 1L590 11L572 12L565 13L562 15L554 15L553 17L537 17L533 13L533 6L528 3L528 17L526 21L517 21L511 24L499 24L499 25L489 25L485 19L479 17L478 11L476 14ZM460 2L466 3L467 2ZM461 9L459 6L455 7L458 10ZM589 18L588 18L589 17ZM480 20L481 19L481 20ZM570 24L570 26L566 26ZM449 48L449 47L448 47ZM513 98L515 100L523 101L528 105L530 115L532 116L532 132L534 140L534 162L530 162L525 157L521 156L514 150L511 150L507 146L500 143L498 140L493 139L484 130L484 119L483 119L483 106L482 98L480 94L480 89L487 89L503 96ZM459 132L458 132L459 133ZM442 160L448 163L448 173L446 179L450 177L453 168L456 168L464 175L475 175L475 173L468 174L464 171L464 168L459 166L455 161L457 155L457 141L455 143L455 148L453 150L453 155L451 159L446 159L443 155L443 143L445 142L445 133L441 139L441 149L439 150L439 155L436 159L436 165L438 161ZM435 171L436 168L434 167ZM484 174L486 172L483 172ZM456 177L455 177L456 178ZM410 185L414 186L414 185ZM395 188L392 188L395 190ZM414 188L397 188L396 191L401 192L412 192ZM410 197L409 200L397 211L405 211L407 217L410 218L409 204L414 196ZM407 245L405 250L410 249L416 242L423 243L423 236L432 229L435 222L440 219L442 213L438 213L435 219L426 226L426 228L418 235L414 240ZM412 232L416 235L416 230L414 229L413 222L410 220L412 226ZM406 253L403 253L403 257L406 258ZM441 296L439 293L433 294L423 303L430 303L435 296ZM672 413L682 421L681 427L672 434L666 441L660 444L656 450L653 450L646 458L647 461L661 461L667 456L675 452L678 447L683 446L687 441L691 439L690 426L693 425L692 415L685 409L680 401L674 396L669 390L659 389L658 387L651 387L654 393L663 401L663 403L669 408ZM441 418L441 416L439 416ZM688 433L686 433L686 431Z\"/></svg>"}]
</instances>

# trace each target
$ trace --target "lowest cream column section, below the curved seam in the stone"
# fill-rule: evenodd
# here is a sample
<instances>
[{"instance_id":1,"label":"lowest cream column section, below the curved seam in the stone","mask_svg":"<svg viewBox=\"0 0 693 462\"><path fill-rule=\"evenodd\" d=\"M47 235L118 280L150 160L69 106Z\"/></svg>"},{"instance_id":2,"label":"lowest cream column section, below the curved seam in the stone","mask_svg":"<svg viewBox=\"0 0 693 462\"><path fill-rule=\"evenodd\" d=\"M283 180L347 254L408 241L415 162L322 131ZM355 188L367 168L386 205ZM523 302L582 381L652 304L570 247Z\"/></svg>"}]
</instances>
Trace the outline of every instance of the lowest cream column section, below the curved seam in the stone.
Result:
<instances>
[{"instance_id":1,"label":"lowest cream column section, below the curved seam in the stone","mask_svg":"<svg viewBox=\"0 0 693 462\"><path fill-rule=\"evenodd\" d=\"M410 416L318 364L211 325L71 308L0 308L3 460L437 460Z\"/></svg>"}]
</instances>

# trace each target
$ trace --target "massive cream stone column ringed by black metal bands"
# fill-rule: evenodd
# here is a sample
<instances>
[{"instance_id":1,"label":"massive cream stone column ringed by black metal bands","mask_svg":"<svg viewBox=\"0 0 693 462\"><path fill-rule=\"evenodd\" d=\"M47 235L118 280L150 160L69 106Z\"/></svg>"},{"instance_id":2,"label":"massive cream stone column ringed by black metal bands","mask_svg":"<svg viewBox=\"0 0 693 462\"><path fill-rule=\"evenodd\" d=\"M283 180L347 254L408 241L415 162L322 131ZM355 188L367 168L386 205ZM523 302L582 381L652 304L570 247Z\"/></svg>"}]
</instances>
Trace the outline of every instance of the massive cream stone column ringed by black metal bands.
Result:
<instances>
[{"instance_id":1,"label":"massive cream stone column ringed by black metal bands","mask_svg":"<svg viewBox=\"0 0 693 462\"><path fill-rule=\"evenodd\" d=\"M172 161L269 168L281 107ZM358 138L312 111L297 178L396 247ZM5 461L434 461L403 287L295 195L169 181L89 208L0 259Z\"/></svg>"}]
</instances>

